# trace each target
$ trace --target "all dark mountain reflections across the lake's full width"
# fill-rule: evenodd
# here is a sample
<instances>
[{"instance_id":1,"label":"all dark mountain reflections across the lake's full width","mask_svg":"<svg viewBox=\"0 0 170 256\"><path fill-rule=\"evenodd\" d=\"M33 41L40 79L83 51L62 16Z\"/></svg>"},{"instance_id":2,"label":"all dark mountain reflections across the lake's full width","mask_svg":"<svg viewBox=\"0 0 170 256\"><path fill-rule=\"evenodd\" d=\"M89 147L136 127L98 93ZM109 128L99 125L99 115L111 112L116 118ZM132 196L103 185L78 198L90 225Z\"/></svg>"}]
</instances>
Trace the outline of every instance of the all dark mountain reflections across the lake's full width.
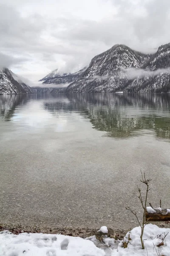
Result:
<instances>
[{"instance_id":1,"label":"all dark mountain reflections across the lake's full width","mask_svg":"<svg viewBox=\"0 0 170 256\"><path fill-rule=\"evenodd\" d=\"M126 138L136 135L139 130L147 129L155 131L159 138L170 139L170 95L168 94L89 93L0 96L0 118L10 121L18 105L25 106L29 112L30 106L33 106L33 103L35 105L35 102L39 109L37 115L43 108L43 111L61 120L62 113L70 115L74 112L90 119L94 129L106 131L107 136L110 137ZM41 113L41 122L46 122L47 113ZM30 119L31 115L26 118Z\"/></svg>"}]
</instances>

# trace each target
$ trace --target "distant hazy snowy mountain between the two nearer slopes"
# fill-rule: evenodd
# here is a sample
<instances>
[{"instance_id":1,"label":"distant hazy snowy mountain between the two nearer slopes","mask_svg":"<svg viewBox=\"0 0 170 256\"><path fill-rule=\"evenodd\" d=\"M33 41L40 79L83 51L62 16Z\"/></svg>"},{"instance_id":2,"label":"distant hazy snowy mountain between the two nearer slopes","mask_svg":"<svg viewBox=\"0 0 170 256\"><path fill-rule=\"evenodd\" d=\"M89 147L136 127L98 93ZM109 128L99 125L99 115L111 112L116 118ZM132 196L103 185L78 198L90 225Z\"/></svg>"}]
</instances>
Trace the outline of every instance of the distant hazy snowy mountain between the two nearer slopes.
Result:
<instances>
[{"instance_id":1,"label":"distant hazy snowy mountain between the two nearer slopes","mask_svg":"<svg viewBox=\"0 0 170 256\"><path fill-rule=\"evenodd\" d=\"M87 67L84 67L83 69L79 70L76 73L64 73L60 75L57 73L57 70L54 70L47 76L45 76L40 81L43 81L43 84L65 84L65 83L71 83L82 75L82 73L87 69Z\"/></svg>"}]
</instances>

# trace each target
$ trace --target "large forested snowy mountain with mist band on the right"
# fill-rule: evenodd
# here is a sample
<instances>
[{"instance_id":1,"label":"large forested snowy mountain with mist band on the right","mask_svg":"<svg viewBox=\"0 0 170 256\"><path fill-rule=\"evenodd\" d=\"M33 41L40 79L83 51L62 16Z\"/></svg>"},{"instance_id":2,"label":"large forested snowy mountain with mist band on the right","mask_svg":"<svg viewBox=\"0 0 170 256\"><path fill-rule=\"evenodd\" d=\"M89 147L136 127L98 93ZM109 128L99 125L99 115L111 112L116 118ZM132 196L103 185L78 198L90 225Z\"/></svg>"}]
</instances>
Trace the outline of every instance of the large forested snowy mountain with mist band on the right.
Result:
<instances>
[{"instance_id":1,"label":"large forested snowy mountain with mist band on the right","mask_svg":"<svg viewBox=\"0 0 170 256\"><path fill-rule=\"evenodd\" d=\"M95 56L68 93L170 92L170 44L154 54L143 54L116 44Z\"/></svg>"}]
</instances>

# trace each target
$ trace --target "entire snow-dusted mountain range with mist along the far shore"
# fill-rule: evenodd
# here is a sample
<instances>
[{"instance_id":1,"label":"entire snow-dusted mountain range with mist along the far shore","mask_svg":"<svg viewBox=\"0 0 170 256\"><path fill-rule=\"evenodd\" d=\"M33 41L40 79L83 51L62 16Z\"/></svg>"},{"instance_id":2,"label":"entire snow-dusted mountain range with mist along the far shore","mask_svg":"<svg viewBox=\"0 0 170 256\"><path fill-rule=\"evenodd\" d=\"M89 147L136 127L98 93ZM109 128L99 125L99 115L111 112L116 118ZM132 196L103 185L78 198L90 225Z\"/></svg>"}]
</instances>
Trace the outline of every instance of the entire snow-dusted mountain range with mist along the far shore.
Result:
<instances>
[{"instance_id":1,"label":"entire snow-dusted mountain range with mist along the far shore","mask_svg":"<svg viewBox=\"0 0 170 256\"><path fill-rule=\"evenodd\" d=\"M170 93L170 43L154 54L144 54L116 44L92 58L76 73L52 71L28 86L8 69L0 71L0 94L10 93Z\"/></svg>"}]
</instances>

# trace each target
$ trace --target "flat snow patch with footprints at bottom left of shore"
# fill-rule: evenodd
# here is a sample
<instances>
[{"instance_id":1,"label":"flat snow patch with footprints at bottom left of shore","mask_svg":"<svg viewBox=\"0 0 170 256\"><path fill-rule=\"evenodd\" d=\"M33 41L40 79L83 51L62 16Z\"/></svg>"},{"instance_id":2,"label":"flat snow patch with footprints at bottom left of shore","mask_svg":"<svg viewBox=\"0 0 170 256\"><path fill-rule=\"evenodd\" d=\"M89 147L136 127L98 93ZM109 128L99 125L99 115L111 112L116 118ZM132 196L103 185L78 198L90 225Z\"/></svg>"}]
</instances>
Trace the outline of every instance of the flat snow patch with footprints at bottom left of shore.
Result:
<instances>
[{"instance_id":1,"label":"flat snow patch with footprints at bottom left of shore","mask_svg":"<svg viewBox=\"0 0 170 256\"><path fill-rule=\"evenodd\" d=\"M63 235L0 232L0 256L104 256L92 241Z\"/></svg>"}]
</instances>

